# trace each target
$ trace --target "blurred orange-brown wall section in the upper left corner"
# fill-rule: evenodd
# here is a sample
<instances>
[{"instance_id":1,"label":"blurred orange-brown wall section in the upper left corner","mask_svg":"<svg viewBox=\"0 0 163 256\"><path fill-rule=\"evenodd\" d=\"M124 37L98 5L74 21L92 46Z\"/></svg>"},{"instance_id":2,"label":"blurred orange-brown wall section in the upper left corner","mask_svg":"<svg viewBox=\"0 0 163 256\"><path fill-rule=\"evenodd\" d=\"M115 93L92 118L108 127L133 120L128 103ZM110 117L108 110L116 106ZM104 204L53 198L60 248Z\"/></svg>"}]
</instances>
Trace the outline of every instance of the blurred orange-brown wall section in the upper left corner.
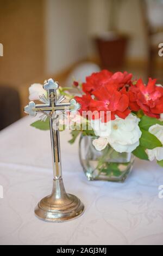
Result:
<instances>
[{"instance_id":1,"label":"blurred orange-brown wall section in the upper left corner","mask_svg":"<svg viewBox=\"0 0 163 256\"><path fill-rule=\"evenodd\" d=\"M43 0L0 0L0 84L20 86L45 69Z\"/></svg>"}]
</instances>

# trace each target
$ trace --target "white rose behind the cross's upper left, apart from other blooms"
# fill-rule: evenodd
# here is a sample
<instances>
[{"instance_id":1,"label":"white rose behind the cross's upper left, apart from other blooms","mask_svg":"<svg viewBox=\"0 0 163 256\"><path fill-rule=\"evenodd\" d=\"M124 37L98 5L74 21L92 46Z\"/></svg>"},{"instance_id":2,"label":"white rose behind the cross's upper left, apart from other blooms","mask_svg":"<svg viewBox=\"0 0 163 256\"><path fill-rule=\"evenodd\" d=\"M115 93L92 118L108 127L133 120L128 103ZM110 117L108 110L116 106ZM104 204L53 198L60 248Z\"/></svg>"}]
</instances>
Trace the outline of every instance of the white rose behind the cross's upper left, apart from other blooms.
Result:
<instances>
[{"instance_id":1,"label":"white rose behind the cross's upper left, apart from other blooms","mask_svg":"<svg viewBox=\"0 0 163 256\"><path fill-rule=\"evenodd\" d=\"M47 97L47 91L43 89L41 84L33 84L29 87L29 100L40 100L40 96Z\"/></svg>"}]
</instances>

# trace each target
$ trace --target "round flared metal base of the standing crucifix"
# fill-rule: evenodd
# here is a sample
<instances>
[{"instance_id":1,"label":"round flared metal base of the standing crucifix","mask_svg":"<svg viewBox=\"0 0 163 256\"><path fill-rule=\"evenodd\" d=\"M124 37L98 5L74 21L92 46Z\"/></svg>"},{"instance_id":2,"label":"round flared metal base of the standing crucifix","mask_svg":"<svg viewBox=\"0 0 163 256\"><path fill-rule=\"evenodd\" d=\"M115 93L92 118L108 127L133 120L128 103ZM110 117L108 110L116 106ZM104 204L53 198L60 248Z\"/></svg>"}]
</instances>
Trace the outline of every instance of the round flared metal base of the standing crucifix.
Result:
<instances>
[{"instance_id":1,"label":"round flared metal base of the standing crucifix","mask_svg":"<svg viewBox=\"0 0 163 256\"><path fill-rule=\"evenodd\" d=\"M43 198L35 208L35 215L47 222L65 222L77 218L84 212L83 203L67 194L62 178L53 180L52 194Z\"/></svg>"}]
</instances>

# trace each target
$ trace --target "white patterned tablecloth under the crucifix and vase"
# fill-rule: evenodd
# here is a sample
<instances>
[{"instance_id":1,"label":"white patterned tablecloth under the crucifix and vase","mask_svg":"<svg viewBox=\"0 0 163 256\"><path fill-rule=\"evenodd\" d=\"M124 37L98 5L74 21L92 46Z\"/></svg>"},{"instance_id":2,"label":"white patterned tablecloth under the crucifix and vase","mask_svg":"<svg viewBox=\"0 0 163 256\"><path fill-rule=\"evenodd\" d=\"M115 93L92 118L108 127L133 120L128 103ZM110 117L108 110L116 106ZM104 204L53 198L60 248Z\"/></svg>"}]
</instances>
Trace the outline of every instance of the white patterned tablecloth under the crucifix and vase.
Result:
<instances>
[{"instance_id":1,"label":"white patterned tablecloth under the crucifix and vase","mask_svg":"<svg viewBox=\"0 0 163 256\"><path fill-rule=\"evenodd\" d=\"M85 213L65 223L37 219L34 207L51 193L53 174L49 132L30 127L32 121L23 118L0 132L1 245L163 245L163 170L136 160L125 183L89 182L67 131L61 133L64 183Z\"/></svg>"}]
</instances>

